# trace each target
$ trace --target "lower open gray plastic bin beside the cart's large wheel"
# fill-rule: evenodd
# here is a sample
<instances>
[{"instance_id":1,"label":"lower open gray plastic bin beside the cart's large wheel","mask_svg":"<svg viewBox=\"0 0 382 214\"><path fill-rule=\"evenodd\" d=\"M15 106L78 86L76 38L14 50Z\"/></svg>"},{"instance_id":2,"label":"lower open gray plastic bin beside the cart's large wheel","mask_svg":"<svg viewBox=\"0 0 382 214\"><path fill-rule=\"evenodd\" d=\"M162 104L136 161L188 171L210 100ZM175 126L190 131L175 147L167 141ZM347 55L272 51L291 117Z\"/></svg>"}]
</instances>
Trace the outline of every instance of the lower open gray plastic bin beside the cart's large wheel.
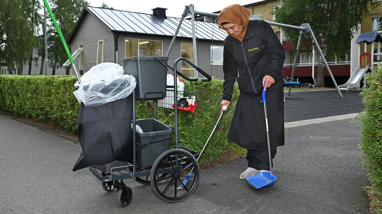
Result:
<instances>
[{"instance_id":1,"label":"lower open gray plastic bin beside the cart's large wheel","mask_svg":"<svg viewBox=\"0 0 382 214\"><path fill-rule=\"evenodd\" d=\"M136 120L143 133L136 132L137 168L151 167L157 157L168 150L172 129L154 118Z\"/></svg>"}]
</instances>

